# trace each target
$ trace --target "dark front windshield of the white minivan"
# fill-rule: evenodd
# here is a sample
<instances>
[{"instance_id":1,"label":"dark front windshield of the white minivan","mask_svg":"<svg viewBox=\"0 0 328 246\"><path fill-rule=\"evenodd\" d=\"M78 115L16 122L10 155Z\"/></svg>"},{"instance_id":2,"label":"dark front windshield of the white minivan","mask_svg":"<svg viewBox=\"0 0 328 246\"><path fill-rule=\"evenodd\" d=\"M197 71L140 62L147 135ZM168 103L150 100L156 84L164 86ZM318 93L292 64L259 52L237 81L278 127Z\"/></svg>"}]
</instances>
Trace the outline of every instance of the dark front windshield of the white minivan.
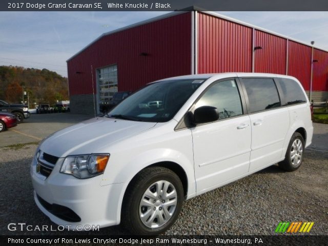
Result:
<instances>
[{"instance_id":1,"label":"dark front windshield of the white minivan","mask_svg":"<svg viewBox=\"0 0 328 246\"><path fill-rule=\"evenodd\" d=\"M127 97L108 115L138 121L169 121L204 80L175 79L150 84Z\"/></svg>"}]
</instances>

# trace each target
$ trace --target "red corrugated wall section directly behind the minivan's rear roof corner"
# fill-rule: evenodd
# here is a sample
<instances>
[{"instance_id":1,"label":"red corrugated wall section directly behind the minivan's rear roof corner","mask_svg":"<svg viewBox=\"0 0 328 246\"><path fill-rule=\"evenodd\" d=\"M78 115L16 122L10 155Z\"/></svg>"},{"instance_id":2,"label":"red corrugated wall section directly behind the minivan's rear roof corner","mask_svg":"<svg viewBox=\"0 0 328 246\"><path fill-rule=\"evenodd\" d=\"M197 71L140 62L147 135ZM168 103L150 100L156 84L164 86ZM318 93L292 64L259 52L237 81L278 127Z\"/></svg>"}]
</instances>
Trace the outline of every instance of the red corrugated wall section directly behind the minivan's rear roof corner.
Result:
<instances>
[{"instance_id":1,"label":"red corrugated wall section directly behind the minivan's rear roof corner","mask_svg":"<svg viewBox=\"0 0 328 246\"><path fill-rule=\"evenodd\" d=\"M289 40L288 75L296 77L304 90L310 90L312 48Z\"/></svg>"}]
</instances>

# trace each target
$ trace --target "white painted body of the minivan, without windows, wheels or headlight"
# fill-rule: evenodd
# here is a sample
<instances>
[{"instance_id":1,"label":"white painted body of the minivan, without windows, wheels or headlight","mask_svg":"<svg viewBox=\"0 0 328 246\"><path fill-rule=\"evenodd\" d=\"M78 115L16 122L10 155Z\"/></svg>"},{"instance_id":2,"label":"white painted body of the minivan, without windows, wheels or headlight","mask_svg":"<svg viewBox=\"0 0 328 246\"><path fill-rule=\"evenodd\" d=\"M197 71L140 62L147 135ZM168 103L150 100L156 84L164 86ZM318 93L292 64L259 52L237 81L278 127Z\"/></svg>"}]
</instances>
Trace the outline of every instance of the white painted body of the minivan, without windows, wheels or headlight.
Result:
<instances>
[{"instance_id":1,"label":"white painted body of the minivan, without windows, wheels or headlight","mask_svg":"<svg viewBox=\"0 0 328 246\"><path fill-rule=\"evenodd\" d=\"M111 226L120 223L122 199L131 179L154 163L175 162L185 171L188 180L186 198L189 199L282 160L291 136L298 128L306 131L305 146L311 144L313 127L309 101L174 130L204 89L218 79L238 76L277 75L223 73L181 76L179 78L203 78L206 81L168 122L156 124L98 118L50 135L40 143L39 149L60 158L48 178L36 173L36 159L33 158L30 173L35 194L49 203L72 209L81 217L81 222L70 223L57 218L35 198L37 206L57 224L70 224L73 228L77 224ZM259 120L261 124L255 124ZM237 129L242 124L248 127ZM59 172L64 157L92 153L110 154L103 175L78 179Z\"/></svg>"}]
</instances>

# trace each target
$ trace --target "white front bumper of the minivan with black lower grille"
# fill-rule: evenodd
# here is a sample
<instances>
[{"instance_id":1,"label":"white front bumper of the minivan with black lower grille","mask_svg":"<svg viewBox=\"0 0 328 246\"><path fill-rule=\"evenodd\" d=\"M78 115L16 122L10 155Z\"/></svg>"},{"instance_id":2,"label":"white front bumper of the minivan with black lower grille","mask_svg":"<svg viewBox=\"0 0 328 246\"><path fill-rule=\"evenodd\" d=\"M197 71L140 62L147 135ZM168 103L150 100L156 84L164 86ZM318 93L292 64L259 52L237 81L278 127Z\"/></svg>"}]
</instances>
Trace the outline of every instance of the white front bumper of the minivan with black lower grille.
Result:
<instances>
[{"instance_id":1,"label":"white front bumper of the minivan with black lower grille","mask_svg":"<svg viewBox=\"0 0 328 246\"><path fill-rule=\"evenodd\" d=\"M49 177L36 172L36 159L30 168L37 207L51 221L69 229L77 226L108 227L119 223L119 198L124 183L100 186L102 175L78 179L59 173L59 158Z\"/></svg>"}]
</instances>

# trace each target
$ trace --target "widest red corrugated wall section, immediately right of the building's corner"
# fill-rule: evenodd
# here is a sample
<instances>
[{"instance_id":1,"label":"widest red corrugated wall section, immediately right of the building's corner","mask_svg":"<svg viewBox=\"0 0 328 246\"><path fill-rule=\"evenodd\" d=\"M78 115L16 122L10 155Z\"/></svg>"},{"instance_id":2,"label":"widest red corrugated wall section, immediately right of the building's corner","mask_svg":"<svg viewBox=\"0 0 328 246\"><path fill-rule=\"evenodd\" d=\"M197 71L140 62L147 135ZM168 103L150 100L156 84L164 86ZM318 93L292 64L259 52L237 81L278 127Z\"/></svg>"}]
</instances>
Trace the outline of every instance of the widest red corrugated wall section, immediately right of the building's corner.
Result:
<instances>
[{"instance_id":1,"label":"widest red corrugated wall section, immediately right of the building's corner","mask_svg":"<svg viewBox=\"0 0 328 246\"><path fill-rule=\"evenodd\" d=\"M198 14L198 73L251 72L252 28Z\"/></svg>"}]
</instances>

